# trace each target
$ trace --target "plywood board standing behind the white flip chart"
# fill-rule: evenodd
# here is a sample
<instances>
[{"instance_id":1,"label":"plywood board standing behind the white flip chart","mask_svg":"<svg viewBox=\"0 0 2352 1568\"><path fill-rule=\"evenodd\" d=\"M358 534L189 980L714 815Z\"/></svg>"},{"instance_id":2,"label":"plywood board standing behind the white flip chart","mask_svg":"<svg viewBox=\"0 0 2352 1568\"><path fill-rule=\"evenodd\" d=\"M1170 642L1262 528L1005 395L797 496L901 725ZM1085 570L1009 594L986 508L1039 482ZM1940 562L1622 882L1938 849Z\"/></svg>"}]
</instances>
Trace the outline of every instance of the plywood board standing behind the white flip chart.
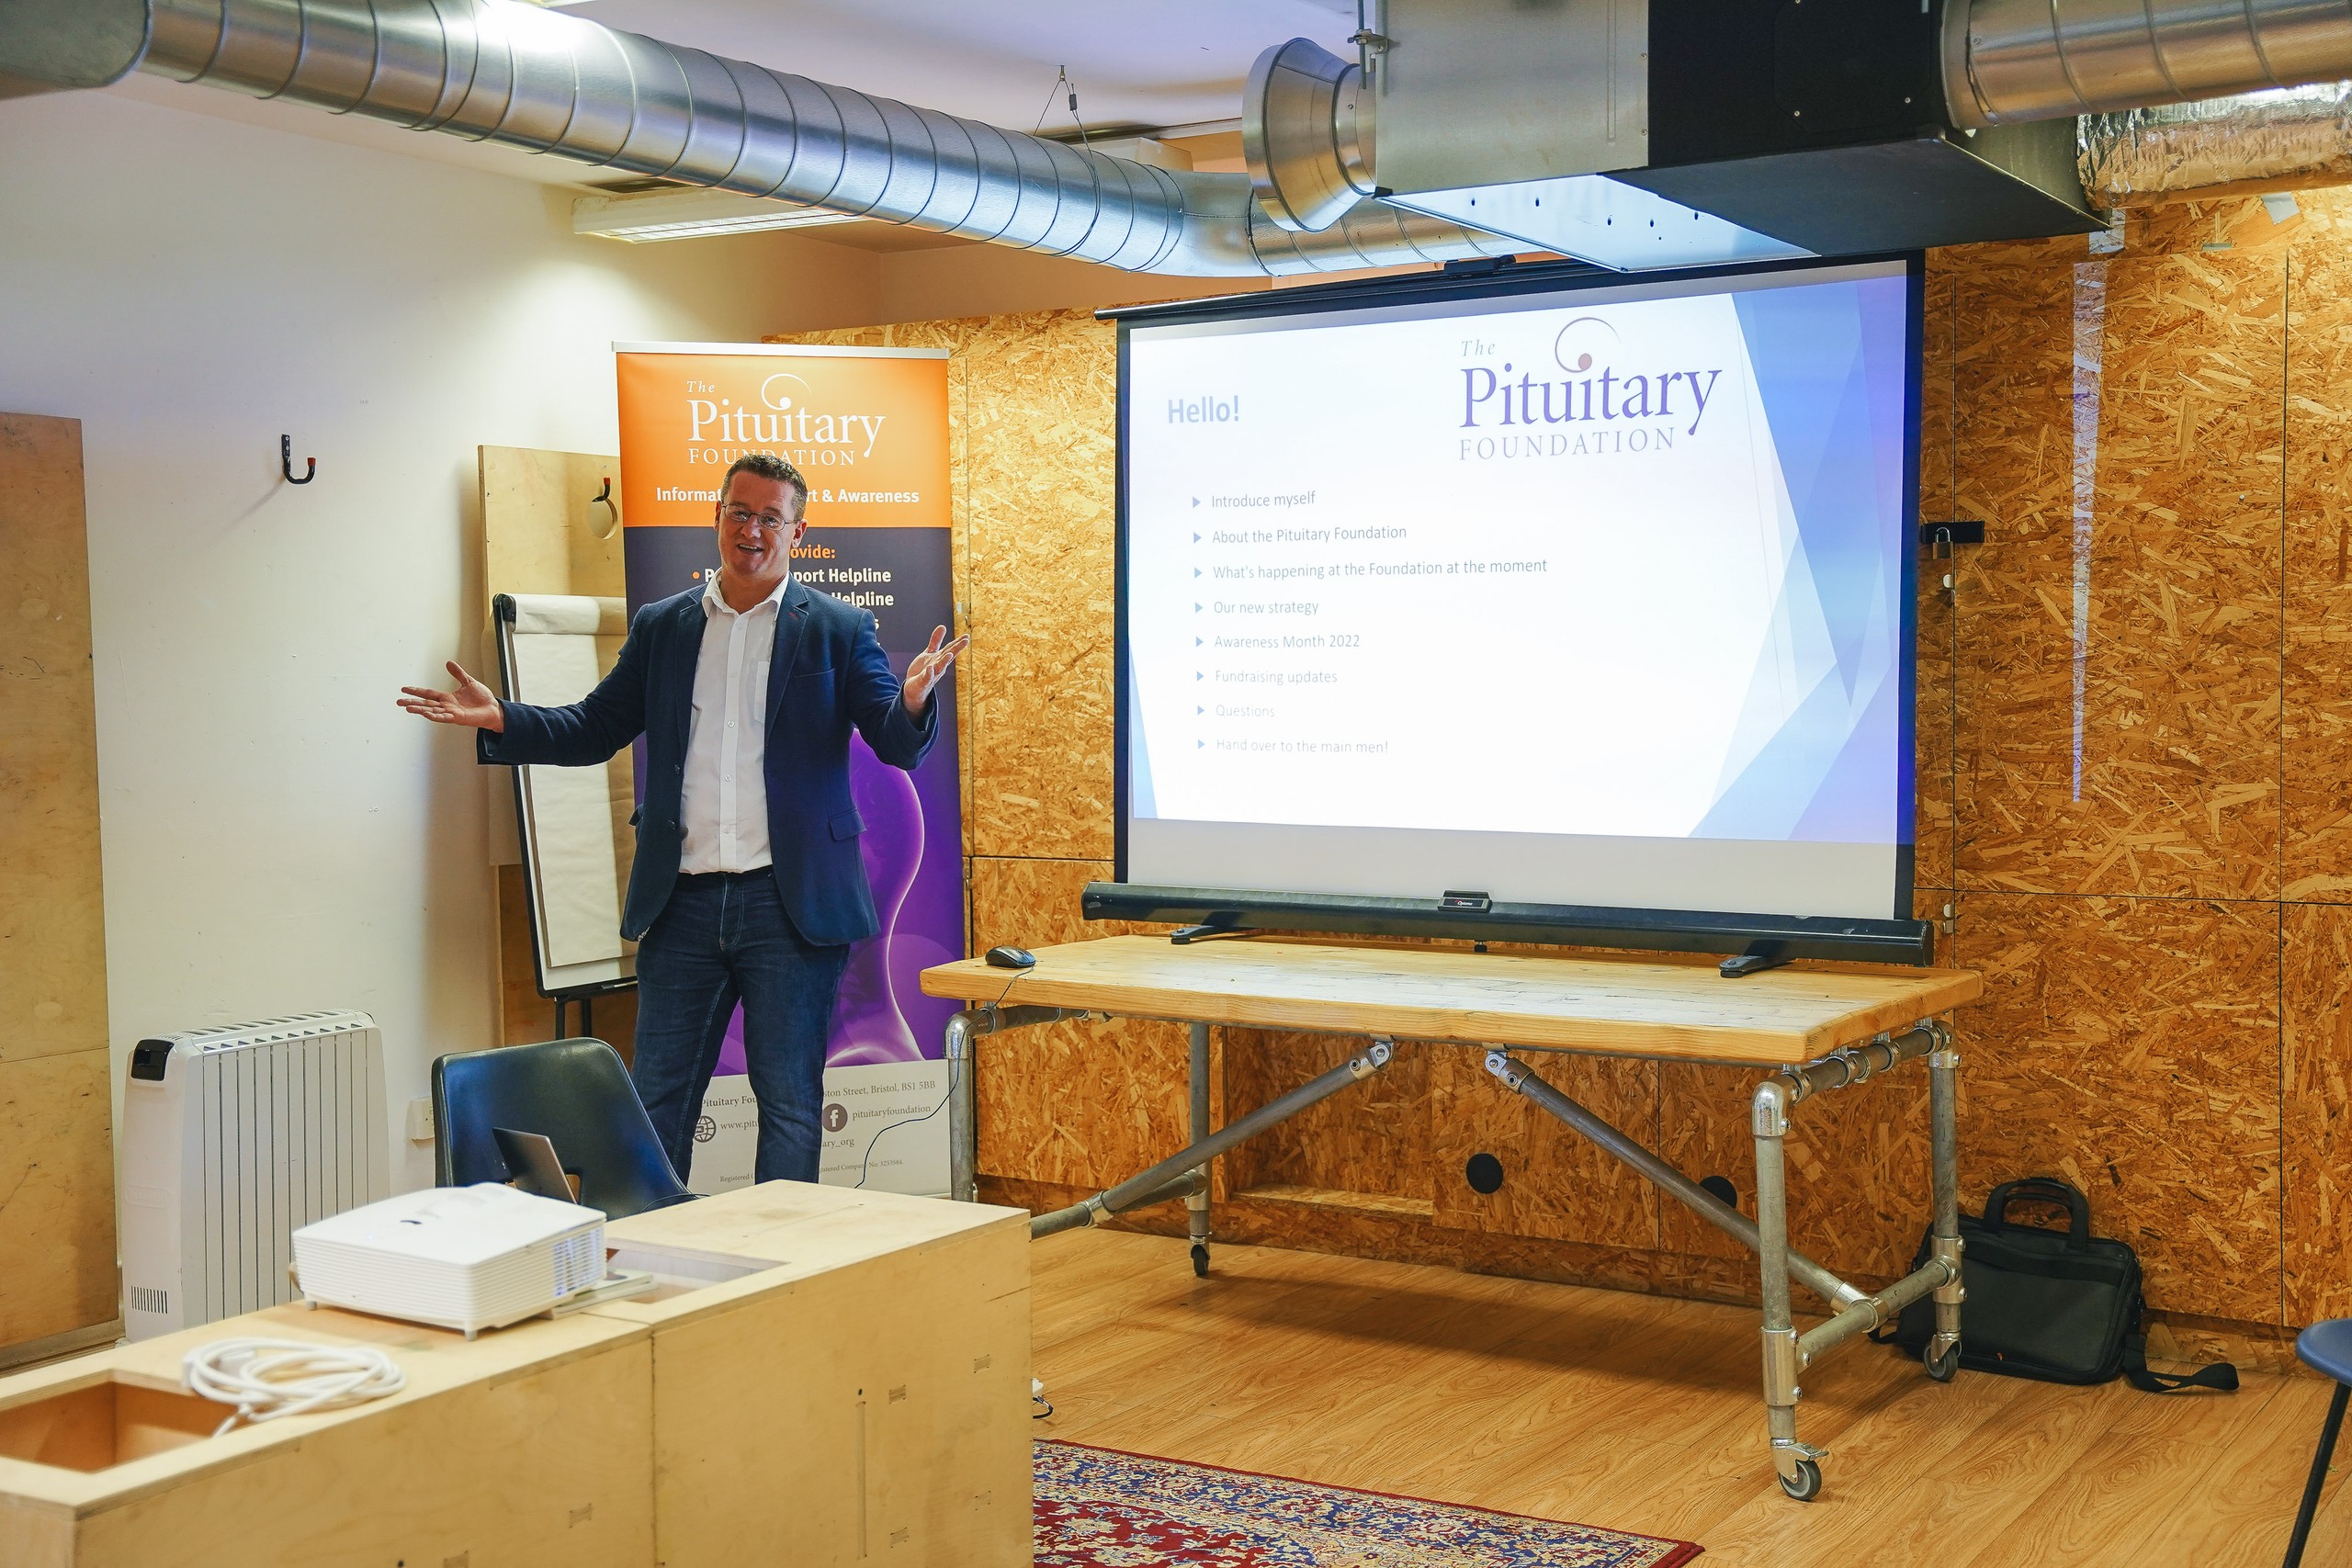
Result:
<instances>
[{"instance_id":1,"label":"plywood board standing behind the white flip chart","mask_svg":"<svg viewBox=\"0 0 2352 1568\"><path fill-rule=\"evenodd\" d=\"M541 451L532 447L482 447L482 602L470 623L482 632L475 675L496 686L496 649L489 635L489 595L543 592L626 599L621 559L621 458L593 451ZM609 491L609 501L597 501ZM604 642L602 637L597 639ZM600 649L602 651L602 649ZM612 646L619 654L619 644ZM626 797L630 752L607 766L616 797ZM499 914L499 1041L515 1046L548 1039L550 1004L539 997L532 966L529 910L515 837L515 783L508 769L482 769L489 790L492 879ZM628 839L621 839L623 853ZM510 870L513 867L513 870ZM621 870L626 877L626 867ZM517 922L522 922L517 926ZM595 1011L597 1037L626 1056L637 1030L637 994L604 997Z\"/></svg>"}]
</instances>

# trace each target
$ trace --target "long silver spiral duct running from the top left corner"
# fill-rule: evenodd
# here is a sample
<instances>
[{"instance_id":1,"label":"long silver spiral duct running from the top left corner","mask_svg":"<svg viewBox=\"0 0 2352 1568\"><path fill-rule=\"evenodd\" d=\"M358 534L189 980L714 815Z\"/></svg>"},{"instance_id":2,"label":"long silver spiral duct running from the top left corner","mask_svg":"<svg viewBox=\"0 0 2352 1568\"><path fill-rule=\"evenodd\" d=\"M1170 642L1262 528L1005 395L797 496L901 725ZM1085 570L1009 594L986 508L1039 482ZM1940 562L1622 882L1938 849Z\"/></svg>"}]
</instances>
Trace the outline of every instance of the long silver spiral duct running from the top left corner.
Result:
<instances>
[{"instance_id":1,"label":"long silver spiral duct running from the top left corner","mask_svg":"<svg viewBox=\"0 0 2352 1568\"><path fill-rule=\"evenodd\" d=\"M0 0L0 78L129 71L1136 273L1524 249L1378 202L1291 233L1242 174L1108 158L513 0Z\"/></svg>"}]
</instances>

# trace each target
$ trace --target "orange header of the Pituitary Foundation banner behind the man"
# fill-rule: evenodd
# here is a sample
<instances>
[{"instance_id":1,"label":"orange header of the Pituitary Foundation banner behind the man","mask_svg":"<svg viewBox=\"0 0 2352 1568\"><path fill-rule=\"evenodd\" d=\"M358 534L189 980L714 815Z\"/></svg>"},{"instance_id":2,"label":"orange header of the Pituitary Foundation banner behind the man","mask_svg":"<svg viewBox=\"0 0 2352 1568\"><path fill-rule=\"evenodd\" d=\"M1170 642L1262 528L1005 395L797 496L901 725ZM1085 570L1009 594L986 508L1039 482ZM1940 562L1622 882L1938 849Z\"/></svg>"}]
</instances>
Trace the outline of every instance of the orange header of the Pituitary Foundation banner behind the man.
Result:
<instances>
[{"instance_id":1,"label":"orange header of the Pituitary Foundation banner behind the man","mask_svg":"<svg viewBox=\"0 0 2352 1568\"><path fill-rule=\"evenodd\" d=\"M948 527L943 353L614 343L614 360L630 529L708 529L746 451L807 477L811 527Z\"/></svg>"}]
</instances>

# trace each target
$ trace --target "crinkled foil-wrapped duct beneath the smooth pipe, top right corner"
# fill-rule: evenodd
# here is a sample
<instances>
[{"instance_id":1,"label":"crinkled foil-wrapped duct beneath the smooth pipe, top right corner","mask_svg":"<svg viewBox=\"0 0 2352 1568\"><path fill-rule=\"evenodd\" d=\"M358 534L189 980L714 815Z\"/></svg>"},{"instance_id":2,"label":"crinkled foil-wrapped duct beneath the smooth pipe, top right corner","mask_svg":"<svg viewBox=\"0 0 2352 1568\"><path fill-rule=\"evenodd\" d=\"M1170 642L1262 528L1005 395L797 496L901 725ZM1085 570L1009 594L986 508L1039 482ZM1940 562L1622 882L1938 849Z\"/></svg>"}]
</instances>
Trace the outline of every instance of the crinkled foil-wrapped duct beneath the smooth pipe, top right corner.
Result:
<instances>
[{"instance_id":1,"label":"crinkled foil-wrapped duct beneath the smooth pipe, top right corner","mask_svg":"<svg viewBox=\"0 0 2352 1568\"><path fill-rule=\"evenodd\" d=\"M2352 82L2082 118L2082 186L2107 207L2232 181L2352 181Z\"/></svg>"}]
</instances>

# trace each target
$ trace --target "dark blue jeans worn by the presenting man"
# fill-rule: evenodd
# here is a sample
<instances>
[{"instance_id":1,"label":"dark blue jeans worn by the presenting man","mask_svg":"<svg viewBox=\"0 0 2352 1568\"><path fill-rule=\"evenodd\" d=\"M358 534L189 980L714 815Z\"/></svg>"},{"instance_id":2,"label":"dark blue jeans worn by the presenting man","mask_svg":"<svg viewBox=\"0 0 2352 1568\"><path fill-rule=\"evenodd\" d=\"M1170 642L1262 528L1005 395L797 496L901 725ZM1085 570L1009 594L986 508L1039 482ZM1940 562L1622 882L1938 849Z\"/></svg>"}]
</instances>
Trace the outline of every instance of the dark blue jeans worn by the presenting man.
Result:
<instances>
[{"instance_id":1,"label":"dark blue jeans worn by the presenting man","mask_svg":"<svg viewBox=\"0 0 2352 1568\"><path fill-rule=\"evenodd\" d=\"M753 1180L816 1180L826 1032L847 964L847 945L802 940L769 872L677 879L637 943L637 1060L628 1077L680 1180L736 1001L760 1100Z\"/></svg>"}]
</instances>

